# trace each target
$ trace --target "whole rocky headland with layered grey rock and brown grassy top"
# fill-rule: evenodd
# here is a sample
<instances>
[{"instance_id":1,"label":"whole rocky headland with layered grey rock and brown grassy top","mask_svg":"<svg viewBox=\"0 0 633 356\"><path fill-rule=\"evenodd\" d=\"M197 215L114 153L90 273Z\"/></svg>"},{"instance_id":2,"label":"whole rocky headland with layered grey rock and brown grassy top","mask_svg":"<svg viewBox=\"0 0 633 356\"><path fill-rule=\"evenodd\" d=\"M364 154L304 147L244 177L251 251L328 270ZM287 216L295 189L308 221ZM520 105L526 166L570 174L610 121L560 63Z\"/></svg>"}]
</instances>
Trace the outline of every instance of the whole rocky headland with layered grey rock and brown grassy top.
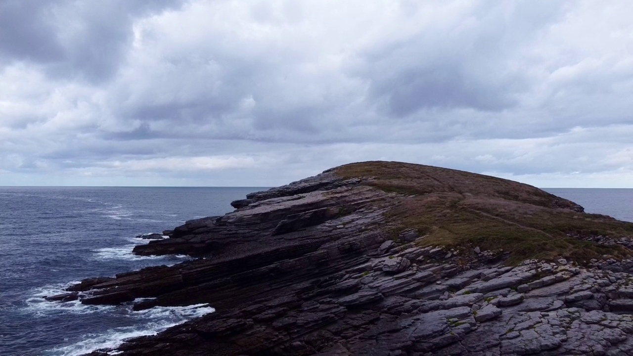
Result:
<instances>
[{"instance_id":1,"label":"whole rocky headland with layered grey rock and brown grassy top","mask_svg":"<svg viewBox=\"0 0 633 356\"><path fill-rule=\"evenodd\" d=\"M208 303L120 355L633 355L633 223L526 184L363 162L249 194L49 300Z\"/></svg>"}]
</instances>

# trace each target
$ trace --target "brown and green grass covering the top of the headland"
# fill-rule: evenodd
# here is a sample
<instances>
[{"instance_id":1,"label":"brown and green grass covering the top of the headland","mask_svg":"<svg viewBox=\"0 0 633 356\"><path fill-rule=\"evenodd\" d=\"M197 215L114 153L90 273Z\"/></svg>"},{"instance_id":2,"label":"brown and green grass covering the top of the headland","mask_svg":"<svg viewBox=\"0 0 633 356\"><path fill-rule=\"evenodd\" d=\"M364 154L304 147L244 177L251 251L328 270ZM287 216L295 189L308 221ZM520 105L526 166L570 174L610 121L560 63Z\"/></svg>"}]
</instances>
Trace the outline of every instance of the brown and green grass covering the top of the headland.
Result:
<instances>
[{"instance_id":1,"label":"brown and green grass covering the top of the headland","mask_svg":"<svg viewBox=\"0 0 633 356\"><path fill-rule=\"evenodd\" d=\"M503 249L509 263L564 257L582 264L602 255L625 257L624 246L567 236L633 236L633 223L582 212L582 207L527 184L446 168L399 162L363 162L335 170L342 177L373 177L366 184L403 194L387 219L426 235L420 245Z\"/></svg>"}]
</instances>

